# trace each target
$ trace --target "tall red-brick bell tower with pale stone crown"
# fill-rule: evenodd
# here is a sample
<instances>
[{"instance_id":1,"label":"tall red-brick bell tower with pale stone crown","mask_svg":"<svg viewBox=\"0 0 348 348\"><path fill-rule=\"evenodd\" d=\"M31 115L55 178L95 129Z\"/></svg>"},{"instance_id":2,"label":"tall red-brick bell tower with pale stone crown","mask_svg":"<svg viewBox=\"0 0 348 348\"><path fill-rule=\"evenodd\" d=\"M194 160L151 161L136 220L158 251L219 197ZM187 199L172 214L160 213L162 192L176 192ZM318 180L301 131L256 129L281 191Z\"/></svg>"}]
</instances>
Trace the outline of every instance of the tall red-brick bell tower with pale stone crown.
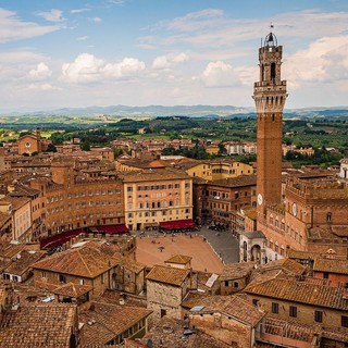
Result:
<instances>
[{"instance_id":1,"label":"tall red-brick bell tower with pale stone crown","mask_svg":"<svg viewBox=\"0 0 348 348\"><path fill-rule=\"evenodd\" d=\"M272 27L259 49L260 80L253 86L258 128L258 221L264 216L268 204L282 202L283 109L287 94L286 80L281 79L283 47L277 45Z\"/></svg>"}]
</instances>

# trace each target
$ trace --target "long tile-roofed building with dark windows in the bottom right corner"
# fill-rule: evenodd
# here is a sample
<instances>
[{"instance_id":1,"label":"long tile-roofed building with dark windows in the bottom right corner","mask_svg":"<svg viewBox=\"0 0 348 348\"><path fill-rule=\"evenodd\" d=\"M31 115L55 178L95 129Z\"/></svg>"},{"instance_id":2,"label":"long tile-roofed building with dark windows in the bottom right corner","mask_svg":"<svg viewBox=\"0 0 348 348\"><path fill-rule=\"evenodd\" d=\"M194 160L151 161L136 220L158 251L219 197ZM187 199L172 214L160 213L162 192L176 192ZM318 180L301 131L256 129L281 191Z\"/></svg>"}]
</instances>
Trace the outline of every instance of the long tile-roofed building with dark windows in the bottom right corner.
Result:
<instances>
[{"instance_id":1,"label":"long tile-roofed building with dark windows in the bottom right corner","mask_svg":"<svg viewBox=\"0 0 348 348\"><path fill-rule=\"evenodd\" d=\"M348 303L344 287L332 287L306 278L275 277L247 286L250 303L270 318L298 326L314 326L321 347L345 347L348 338ZM334 334L336 333L336 334ZM281 333L279 333L281 335ZM298 347L298 346L296 346Z\"/></svg>"}]
</instances>

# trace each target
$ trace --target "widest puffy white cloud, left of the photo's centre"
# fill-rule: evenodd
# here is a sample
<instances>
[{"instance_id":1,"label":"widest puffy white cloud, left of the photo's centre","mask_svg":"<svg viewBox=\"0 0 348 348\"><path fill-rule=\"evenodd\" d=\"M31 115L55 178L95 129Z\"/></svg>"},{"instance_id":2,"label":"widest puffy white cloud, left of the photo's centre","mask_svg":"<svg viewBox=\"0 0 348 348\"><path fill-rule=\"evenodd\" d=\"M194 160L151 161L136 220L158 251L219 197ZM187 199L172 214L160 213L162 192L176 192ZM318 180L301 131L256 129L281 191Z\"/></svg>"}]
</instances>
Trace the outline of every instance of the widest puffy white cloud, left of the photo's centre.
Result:
<instances>
[{"instance_id":1,"label":"widest puffy white cloud, left of the photo's centre","mask_svg":"<svg viewBox=\"0 0 348 348\"><path fill-rule=\"evenodd\" d=\"M62 66L63 78L71 83L91 83L104 79L123 79L136 76L145 63L136 58L125 58L119 63L105 63L89 53L79 54L74 62Z\"/></svg>"}]
</instances>

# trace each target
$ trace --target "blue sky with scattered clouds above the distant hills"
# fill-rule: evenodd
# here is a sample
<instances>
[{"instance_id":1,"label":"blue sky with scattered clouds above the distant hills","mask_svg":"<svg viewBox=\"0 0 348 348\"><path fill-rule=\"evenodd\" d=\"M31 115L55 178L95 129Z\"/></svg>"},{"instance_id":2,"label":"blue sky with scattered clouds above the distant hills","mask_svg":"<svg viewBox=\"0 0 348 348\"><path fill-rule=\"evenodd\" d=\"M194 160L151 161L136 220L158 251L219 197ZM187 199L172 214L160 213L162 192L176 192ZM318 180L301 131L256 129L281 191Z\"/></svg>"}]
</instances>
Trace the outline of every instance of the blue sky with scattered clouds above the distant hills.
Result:
<instances>
[{"instance_id":1,"label":"blue sky with scattered clouds above the distant hills","mask_svg":"<svg viewBox=\"0 0 348 348\"><path fill-rule=\"evenodd\" d=\"M348 105L346 0L1 0L0 110L253 107L271 23L286 108Z\"/></svg>"}]
</instances>

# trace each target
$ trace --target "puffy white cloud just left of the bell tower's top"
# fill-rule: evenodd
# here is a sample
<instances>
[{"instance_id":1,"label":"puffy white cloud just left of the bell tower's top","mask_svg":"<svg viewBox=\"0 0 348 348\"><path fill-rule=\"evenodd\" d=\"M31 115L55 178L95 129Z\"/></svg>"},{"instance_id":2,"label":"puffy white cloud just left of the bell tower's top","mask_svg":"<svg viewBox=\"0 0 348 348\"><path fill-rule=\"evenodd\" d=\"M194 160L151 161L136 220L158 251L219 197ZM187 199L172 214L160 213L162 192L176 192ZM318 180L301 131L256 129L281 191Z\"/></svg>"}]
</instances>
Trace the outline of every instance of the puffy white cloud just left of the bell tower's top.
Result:
<instances>
[{"instance_id":1,"label":"puffy white cloud just left of the bell tower's top","mask_svg":"<svg viewBox=\"0 0 348 348\"><path fill-rule=\"evenodd\" d=\"M210 62L200 79L206 87L227 87L236 85L236 80L239 80L233 66L223 61Z\"/></svg>"}]
</instances>

